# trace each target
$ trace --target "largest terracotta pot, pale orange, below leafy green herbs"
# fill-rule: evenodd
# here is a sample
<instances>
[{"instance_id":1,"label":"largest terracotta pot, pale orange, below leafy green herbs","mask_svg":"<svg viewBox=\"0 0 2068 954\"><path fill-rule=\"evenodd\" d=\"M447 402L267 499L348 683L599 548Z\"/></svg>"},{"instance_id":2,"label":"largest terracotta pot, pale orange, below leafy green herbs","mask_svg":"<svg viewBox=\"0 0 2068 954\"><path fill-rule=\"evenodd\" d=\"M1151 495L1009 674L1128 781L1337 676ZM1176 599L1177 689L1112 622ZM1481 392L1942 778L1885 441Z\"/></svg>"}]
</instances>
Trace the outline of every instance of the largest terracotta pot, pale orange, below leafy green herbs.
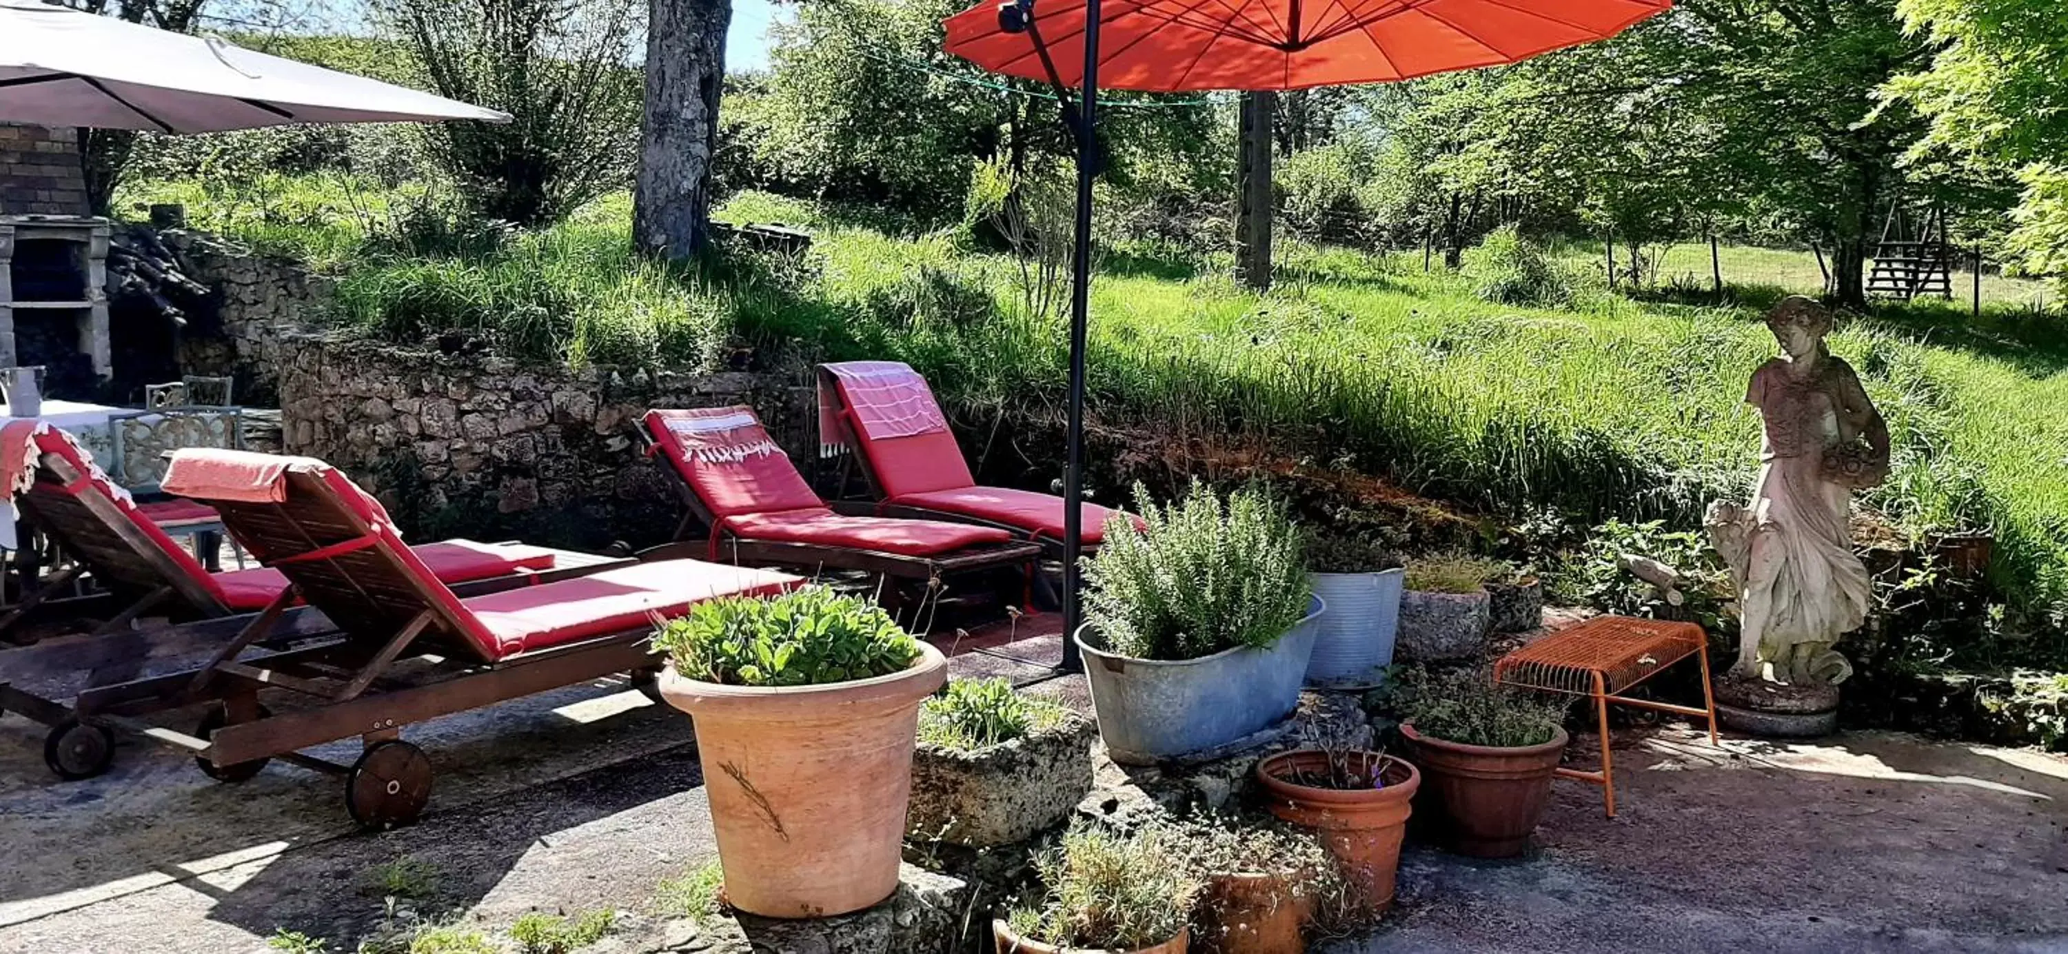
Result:
<instances>
[{"instance_id":1,"label":"largest terracotta pot, pale orange, below leafy green herbs","mask_svg":"<svg viewBox=\"0 0 2068 954\"><path fill-rule=\"evenodd\" d=\"M662 673L662 695L697 720L732 906L831 917L898 890L918 704L945 681L947 658L929 644L904 673L852 683L778 689Z\"/></svg>"}]
</instances>

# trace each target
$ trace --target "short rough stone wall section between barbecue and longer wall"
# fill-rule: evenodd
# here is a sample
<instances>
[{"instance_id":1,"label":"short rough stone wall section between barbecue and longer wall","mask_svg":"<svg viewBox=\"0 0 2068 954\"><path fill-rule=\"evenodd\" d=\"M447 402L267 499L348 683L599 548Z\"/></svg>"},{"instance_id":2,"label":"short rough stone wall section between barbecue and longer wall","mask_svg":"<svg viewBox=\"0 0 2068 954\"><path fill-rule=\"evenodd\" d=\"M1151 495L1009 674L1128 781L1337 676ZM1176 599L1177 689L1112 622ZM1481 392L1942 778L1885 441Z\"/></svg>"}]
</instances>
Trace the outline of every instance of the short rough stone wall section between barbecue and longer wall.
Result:
<instances>
[{"instance_id":1,"label":"short rough stone wall section between barbecue and longer wall","mask_svg":"<svg viewBox=\"0 0 2068 954\"><path fill-rule=\"evenodd\" d=\"M207 315L190 315L180 335L180 372L232 375L240 404L267 406L279 391L279 368L296 360L290 341L304 341L331 306L335 288L294 259L254 255L234 242L168 230L159 238L186 275L211 290Z\"/></svg>"}]
</instances>

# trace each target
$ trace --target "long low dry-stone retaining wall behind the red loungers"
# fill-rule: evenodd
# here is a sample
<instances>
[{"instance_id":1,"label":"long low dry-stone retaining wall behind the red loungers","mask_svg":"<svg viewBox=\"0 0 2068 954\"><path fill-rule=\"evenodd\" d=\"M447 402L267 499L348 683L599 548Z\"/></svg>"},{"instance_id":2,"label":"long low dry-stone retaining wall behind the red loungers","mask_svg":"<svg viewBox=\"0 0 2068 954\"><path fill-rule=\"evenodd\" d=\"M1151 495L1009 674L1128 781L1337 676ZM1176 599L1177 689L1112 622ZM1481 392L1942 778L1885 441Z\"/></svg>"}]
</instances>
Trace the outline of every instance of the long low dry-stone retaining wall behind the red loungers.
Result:
<instances>
[{"instance_id":1,"label":"long low dry-stone retaining wall behind the red loungers","mask_svg":"<svg viewBox=\"0 0 2068 954\"><path fill-rule=\"evenodd\" d=\"M275 348L285 453L337 464L420 540L664 542L682 507L641 455L647 408L749 404L798 466L817 459L804 372L540 368L323 333Z\"/></svg>"}]
</instances>

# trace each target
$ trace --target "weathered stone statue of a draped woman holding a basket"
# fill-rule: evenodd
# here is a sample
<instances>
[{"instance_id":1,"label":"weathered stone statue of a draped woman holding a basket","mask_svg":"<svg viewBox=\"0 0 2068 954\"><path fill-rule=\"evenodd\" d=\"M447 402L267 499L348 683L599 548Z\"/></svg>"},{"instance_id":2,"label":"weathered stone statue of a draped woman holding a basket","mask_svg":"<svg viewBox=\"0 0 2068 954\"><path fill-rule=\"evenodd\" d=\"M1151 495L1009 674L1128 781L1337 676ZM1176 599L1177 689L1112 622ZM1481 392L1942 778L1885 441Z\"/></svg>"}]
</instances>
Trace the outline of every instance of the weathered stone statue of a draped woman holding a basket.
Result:
<instances>
[{"instance_id":1,"label":"weathered stone statue of a draped woman holding a basket","mask_svg":"<svg viewBox=\"0 0 2068 954\"><path fill-rule=\"evenodd\" d=\"M1766 327L1783 354L1752 375L1745 393L1766 428L1760 478L1750 507L1708 511L1743 621L1731 675L1832 687L1853 675L1832 646L1865 623L1872 596L1853 553L1851 499L1888 476L1888 424L1853 366L1824 350L1830 310L1789 298Z\"/></svg>"}]
</instances>

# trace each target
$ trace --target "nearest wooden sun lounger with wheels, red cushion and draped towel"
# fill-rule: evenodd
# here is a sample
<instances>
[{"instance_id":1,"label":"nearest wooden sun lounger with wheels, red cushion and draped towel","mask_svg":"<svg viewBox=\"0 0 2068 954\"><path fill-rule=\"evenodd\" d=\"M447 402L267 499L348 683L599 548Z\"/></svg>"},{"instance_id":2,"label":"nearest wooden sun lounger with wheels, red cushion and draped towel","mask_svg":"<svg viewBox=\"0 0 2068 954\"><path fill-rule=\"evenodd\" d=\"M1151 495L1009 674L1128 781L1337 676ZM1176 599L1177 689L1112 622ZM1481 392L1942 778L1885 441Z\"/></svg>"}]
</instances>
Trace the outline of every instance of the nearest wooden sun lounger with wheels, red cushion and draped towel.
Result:
<instances>
[{"instance_id":1,"label":"nearest wooden sun lounger with wheels, red cushion and draped towel","mask_svg":"<svg viewBox=\"0 0 2068 954\"><path fill-rule=\"evenodd\" d=\"M213 702L194 735L153 733L194 751L203 772L246 780L267 759L345 776L345 809L368 828L407 824L430 797L430 759L403 726L616 673L651 675L656 619L720 596L767 596L796 577L701 561L656 561L594 575L459 596L364 490L323 461L246 451L178 451L165 488L213 505L230 532L294 594L339 627L339 639L263 658L287 610L281 594L201 668L79 697L87 716L136 699ZM407 664L407 679L399 673ZM271 712L261 691L298 697ZM349 766L302 749L362 741Z\"/></svg>"}]
</instances>

